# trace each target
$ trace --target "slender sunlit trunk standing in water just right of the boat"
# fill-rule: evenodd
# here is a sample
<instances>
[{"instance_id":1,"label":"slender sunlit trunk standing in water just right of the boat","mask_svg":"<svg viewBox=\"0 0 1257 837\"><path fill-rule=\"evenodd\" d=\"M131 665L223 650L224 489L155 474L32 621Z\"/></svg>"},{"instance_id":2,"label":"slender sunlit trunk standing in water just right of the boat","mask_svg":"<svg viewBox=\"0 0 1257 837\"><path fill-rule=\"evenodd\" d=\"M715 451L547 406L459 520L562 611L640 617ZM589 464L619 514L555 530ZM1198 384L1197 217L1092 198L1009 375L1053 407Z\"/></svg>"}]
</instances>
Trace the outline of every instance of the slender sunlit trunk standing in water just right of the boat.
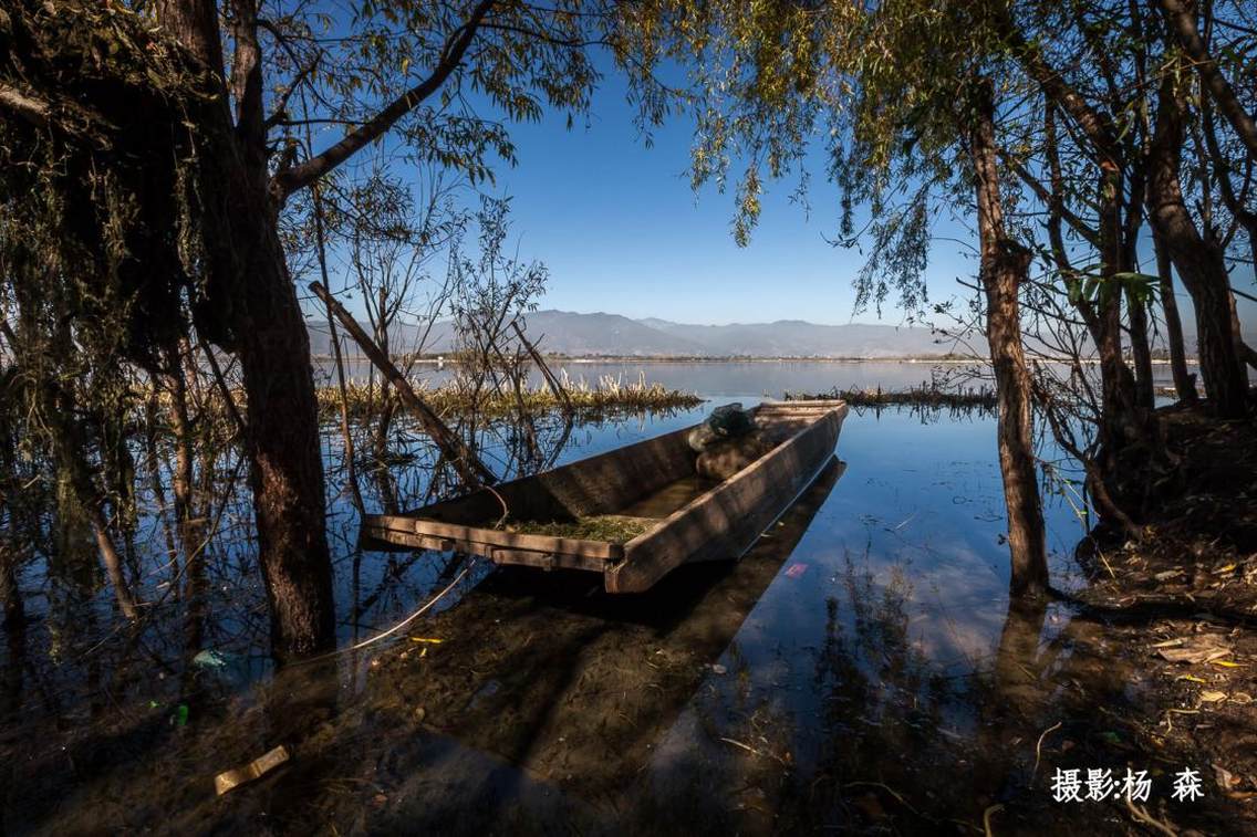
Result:
<instances>
[{"instance_id":1,"label":"slender sunlit trunk standing in water just right of the boat","mask_svg":"<svg viewBox=\"0 0 1257 837\"><path fill-rule=\"evenodd\" d=\"M999 471L1008 508L1009 591L1035 596L1047 588L1047 538L1038 495L1031 415L1031 381L1021 339L1018 293L1029 251L1004 232L991 83L975 85L970 148L977 180L980 279L987 295L987 339L998 398Z\"/></svg>"}]
</instances>

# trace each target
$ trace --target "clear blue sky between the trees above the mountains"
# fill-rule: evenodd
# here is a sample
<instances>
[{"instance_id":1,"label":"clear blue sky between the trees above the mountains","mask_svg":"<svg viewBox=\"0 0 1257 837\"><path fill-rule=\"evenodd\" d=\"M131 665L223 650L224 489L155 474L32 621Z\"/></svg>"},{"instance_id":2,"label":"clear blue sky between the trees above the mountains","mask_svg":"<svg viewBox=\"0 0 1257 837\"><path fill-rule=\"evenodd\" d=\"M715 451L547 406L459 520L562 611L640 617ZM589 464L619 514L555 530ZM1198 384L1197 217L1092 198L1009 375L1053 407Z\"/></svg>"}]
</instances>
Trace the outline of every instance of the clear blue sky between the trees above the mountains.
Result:
<instances>
[{"instance_id":1,"label":"clear blue sky between the trees above the mountains","mask_svg":"<svg viewBox=\"0 0 1257 837\"><path fill-rule=\"evenodd\" d=\"M733 241L732 189L695 194L685 170L693 123L676 118L639 137L623 83L605 79L587 124L566 114L514 126L519 165L497 167L495 194L512 196L520 256L551 270L543 308L661 317L690 323L807 319L900 323L884 310L852 317L856 250L833 248L837 192L817 161L811 212L788 200L794 181L768 183L752 243ZM950 226L949 235L965 235ZM947 243L931 260L935 297L960 290L973 261Z\"/></svg>"}]
</instances>

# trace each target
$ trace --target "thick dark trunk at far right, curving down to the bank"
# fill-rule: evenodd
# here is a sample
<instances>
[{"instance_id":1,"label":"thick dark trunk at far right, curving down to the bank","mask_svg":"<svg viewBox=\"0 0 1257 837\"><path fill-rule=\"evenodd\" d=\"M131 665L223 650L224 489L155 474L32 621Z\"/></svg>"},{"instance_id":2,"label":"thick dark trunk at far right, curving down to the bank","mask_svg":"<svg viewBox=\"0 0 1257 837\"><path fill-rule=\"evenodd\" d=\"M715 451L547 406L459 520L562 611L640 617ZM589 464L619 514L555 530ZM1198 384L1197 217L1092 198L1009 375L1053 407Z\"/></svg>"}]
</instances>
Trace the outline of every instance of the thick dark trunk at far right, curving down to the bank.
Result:
<instances>
[{"instance_id":1,"label":"thick dark trunk at far right, curving down to the bank","mask_svg":"<svg viewBox=\"0 0 1257 837\"><path fill-rule=\"evenodd\" d=\"M1224 418L1247 412L1248 382L1236 352L1231 282L1219 244L1202 236L1188 212L1179 181L1183 106L1166 73L1156 107L1148 182L1148 215L1195 307L1198 358L1213 411Z\"/></svg>"}]
</instances>

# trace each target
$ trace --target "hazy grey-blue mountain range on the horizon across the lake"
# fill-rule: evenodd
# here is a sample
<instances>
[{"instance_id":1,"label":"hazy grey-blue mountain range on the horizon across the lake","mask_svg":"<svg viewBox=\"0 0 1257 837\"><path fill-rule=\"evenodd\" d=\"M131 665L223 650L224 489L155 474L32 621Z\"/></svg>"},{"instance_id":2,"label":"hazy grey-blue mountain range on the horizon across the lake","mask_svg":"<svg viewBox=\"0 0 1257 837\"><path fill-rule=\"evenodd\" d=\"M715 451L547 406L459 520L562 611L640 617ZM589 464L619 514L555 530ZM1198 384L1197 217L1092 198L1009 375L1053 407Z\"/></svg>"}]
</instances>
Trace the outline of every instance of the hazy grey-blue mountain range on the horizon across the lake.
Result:
<instances>
[{"instance_id":1,"label":"hazy grey-blue mountain range on the horizon across the lake","mask_svg":"<svg viewBox=\"0 0 1257 837\"><path fill-rule=\"evenodd\" d=\"M985 353L985 341L968 346L928 328L896 326L818 326L798 319L776 323L695 326L666 319L630 319L618 314L539 310L528 314L528 336L542 352L569 357L763 357L763 358L890 358ZM312 324L314 354L327 356L326 326ZM414 351L417 332L393 338L393 352ZM425 354L450 352L453 331L435 323L422 347Z\"/></svg>"}]
</instances>

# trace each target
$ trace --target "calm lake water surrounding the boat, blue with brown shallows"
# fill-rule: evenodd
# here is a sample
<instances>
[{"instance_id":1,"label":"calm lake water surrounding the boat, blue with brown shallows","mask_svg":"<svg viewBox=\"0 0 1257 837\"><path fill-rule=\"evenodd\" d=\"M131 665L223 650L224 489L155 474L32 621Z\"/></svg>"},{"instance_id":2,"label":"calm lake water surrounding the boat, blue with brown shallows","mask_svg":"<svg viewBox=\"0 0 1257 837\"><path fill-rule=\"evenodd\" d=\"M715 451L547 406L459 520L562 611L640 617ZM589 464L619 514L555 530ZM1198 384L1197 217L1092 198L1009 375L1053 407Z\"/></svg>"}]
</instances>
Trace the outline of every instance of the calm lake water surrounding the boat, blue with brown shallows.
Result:
<instances>
[{"instance_id":1,"label":"calm lake water surrounding the boat, blue with brown shallows","mask_svg":"<svg viewBox=\"0 0 1257 837\"><path fill-rule=\"evenodd\" d=\"M931 375L905 363L567 368L588 380L641 368L710 401L578 427L559 462L694 424L715 403ZM398 452L363 476L368 510L386 494L422 504L431 454L416 435ZM225 506L209 552L204 608L170 606L140 632L117 627L98 579L75 587L29 568L35 623L0 652L6 831L979 827L989 801L1031 792L1041 728L1019 713L1080 676L1071 613L1009 608L992 417L852 411L836 454L742 562L611 597L579 573L476 563L460 577L458 555L358 550L329 429L342 646L461 581L390 641L270 679L241 503ZM1045 508L1063 589L1084 583L1071 491L1048 493ZM147 534L140 547L156 552L155 524ZM168 577L147 559L141 597L160 599ZM217 656L194 661L206 651ZM214 798L215 773L277 744L290 767Z\"/></svg>"}]
</instances>

